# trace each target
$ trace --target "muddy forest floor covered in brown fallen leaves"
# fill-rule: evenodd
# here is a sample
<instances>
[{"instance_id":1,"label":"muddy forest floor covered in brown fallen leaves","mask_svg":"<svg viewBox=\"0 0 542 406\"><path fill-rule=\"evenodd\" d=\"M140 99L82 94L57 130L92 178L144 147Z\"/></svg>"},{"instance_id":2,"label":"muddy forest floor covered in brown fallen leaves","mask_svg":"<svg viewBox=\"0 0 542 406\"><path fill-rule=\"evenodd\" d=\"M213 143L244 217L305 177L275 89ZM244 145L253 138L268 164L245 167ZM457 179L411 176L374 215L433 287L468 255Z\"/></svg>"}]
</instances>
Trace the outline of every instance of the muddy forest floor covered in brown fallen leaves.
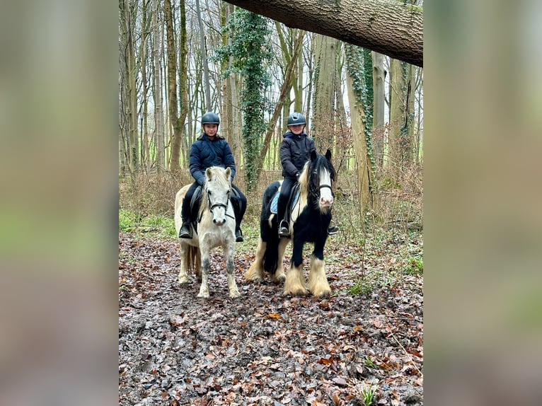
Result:
<instances>
[{"instance_id":1,"label":"muddy forest floor covered in brown fallen leaves","mask_svg":"<svg viewBox=\"0 0 542 406\"><path fill-rule=\"evenodd\" d=\"M258 240L246 234L241 298L229 298L216 249L202 300L194 274L177 282L173 238L120 231L119 405L422 405L423 243L405 236L362 251L331 237L333 294L318 299L245 282Z\"/></svg>"}]
</instances>

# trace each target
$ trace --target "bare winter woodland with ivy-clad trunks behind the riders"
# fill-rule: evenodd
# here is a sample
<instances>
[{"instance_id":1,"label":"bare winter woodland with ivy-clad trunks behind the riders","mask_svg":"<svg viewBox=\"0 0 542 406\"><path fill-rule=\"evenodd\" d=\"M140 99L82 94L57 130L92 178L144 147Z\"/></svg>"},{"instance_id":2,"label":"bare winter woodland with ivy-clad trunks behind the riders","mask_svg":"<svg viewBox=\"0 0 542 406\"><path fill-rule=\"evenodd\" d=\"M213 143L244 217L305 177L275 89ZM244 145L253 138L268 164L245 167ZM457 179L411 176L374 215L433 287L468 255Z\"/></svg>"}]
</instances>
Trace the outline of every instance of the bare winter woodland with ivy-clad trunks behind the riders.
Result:
<instances>
[{"instance_id":1,"label":"bare winter woodland with ivy-clad trunks behind the riders","mask_svg":"<svg viewBox=\"0 0 542 406\"><path fill-rule=\"evenodd\" d=\"M307 2L289 4L299 13ZM171 181L173 193L190 181L190 145L210 110L236 158L236 183L258 202L258 185L280 175L286 117L299 111L318 150L333 151L338 189L360 216L420 221L422 68L224 1L119 6L119 175L133 195L125 208L171 214L171 199L144 208L135 196L152 182ZM400 213L384 219L390 204Z\"/></svg>"}]
</instances>

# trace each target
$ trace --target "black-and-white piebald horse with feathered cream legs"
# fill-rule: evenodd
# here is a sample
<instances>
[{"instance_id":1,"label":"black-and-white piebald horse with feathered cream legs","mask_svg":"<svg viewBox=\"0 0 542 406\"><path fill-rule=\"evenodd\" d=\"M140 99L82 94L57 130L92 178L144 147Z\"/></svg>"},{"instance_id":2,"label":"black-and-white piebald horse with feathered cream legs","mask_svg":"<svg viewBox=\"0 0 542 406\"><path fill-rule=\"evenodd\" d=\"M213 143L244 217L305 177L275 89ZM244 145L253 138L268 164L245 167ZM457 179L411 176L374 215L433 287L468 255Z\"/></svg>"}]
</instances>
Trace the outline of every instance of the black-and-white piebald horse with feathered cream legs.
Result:
<instances>
[{"instance_id":1,"label":"black-and-white piebald horse with feathered cream legs","mask_svg":"<svg viewBox=\"0 0 542 406\"><path fill-rule=\"evenodd\" d=\"M323 249L331 221L334 182L335 168L331 163L331 152L328 150L325 156L313 152L299 176L299 195L294 199L289 216L290 236L280 238L273 203L277 199L282 180L272 182L267 187L263 195L256 258L245 273L246 280L263 279L265 271L272 281L284 282L284 294L305 295L310 292L313 296L321 297L331 293L325 276ZM292 260L287 274L284 274L282 261L290 240L293 244ZM302 269L305 243L314 244L308 286Z\"/></svg>"}]
</instances>

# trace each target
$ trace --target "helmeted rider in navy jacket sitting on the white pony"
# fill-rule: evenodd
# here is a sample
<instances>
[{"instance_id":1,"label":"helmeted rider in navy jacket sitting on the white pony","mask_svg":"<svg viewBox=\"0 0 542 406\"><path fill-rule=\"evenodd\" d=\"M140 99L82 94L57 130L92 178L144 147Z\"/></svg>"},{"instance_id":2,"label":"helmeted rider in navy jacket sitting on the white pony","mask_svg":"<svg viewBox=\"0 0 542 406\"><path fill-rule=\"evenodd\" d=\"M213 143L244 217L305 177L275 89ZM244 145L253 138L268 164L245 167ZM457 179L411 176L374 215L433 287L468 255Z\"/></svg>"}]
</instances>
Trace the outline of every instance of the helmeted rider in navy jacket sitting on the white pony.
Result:
<instances>
[{"instance_id":1,"label":"helmeted rider in navy jacket sitting on the white pony","mask_svg":"<svg viewBox=\"0 0 542 406\"><path fill-rule=\"evenodd\" d=\"M183 199L181 210L183 225L179 230L179 238L192 238L190 201L197 187L203 185L205 181L205 170L211 166L221 166L231 169L231 188L234 192L231 194L230 201L236 217L235 236L236 242L243 241L241 221L246 210L246 197L236 185L233 185L236 172L235 159L228 141L218 134L219 125L219 116L214 112L206 112L202 116L203 134L190 148L190 174L195 182L192 183Z\"/></svg>"}]
</instances>

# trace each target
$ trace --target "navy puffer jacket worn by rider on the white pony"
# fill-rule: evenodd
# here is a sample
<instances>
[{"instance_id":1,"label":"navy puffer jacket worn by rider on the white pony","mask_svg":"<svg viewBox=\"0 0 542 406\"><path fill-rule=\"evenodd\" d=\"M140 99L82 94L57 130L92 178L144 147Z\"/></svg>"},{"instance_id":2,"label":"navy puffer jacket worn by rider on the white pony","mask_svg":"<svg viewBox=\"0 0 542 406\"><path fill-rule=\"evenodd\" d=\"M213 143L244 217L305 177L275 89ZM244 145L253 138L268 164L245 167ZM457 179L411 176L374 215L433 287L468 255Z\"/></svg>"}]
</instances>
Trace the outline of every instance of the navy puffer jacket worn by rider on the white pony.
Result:
<instances>
[{"instance_id":1,"label":"navy puffer jacket worn by rider on the white pony","mask_svg":"<svg viewBox=\"0 0 542 406\"><path fill-rule=\"evenodd\" d=\"M231 168L231 181L235 178L235 159L228 141L215 135L211 141L202 134L190 148L190 174L200 185L205 181L205 170L211 166Z\"/></svg>"}]
</instances>

